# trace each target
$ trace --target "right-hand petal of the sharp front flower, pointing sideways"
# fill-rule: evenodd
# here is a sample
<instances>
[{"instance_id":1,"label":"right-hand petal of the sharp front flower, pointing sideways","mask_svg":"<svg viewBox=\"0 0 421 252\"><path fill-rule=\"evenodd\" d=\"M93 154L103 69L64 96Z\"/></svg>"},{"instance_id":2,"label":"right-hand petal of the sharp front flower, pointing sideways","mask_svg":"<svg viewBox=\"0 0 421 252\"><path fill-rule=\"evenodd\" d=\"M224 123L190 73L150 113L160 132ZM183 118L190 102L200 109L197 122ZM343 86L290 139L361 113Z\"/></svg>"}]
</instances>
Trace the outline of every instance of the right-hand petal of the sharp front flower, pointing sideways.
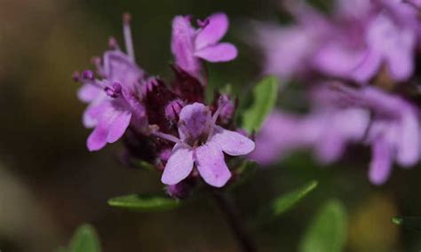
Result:
<instances>
[{"instance_id":1,"label":"right-hand petal of the sharp front flower, pointing sideways","mask_svg":"<svg viewBox=\"0 0 421 252\"><path fill-rule=\"evenodd\" d=\"M225 130L215 126L214 135L211 141L217 144L222 151L232 156L250 154L254 150L254 142L242 134Z\"/></svg>"}]
</instances>

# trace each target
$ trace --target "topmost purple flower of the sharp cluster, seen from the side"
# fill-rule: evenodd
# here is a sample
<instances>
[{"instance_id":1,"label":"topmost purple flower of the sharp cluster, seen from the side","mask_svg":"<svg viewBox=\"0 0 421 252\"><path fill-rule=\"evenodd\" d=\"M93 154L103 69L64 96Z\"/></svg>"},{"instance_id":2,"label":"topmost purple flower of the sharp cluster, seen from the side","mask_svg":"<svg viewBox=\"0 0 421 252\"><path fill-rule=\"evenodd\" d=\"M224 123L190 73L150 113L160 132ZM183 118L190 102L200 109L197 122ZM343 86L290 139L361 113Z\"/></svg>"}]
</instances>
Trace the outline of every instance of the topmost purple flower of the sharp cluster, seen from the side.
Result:
<instances>
[{"instance_id":1,"label":"topmost purple flower of the sharp cluster, seen from the side","mask_svg":"<svg viewBox=\"0 0 421 252\"><path fill-rule=\"evenodd\" d=\"M228 29L225 13L215 13L204 21L198 21L198 29L192 27L190 19L189 16L177 16L172 20L171 51L179 67L202 80L200 59L230 61L237 57L237 49L232 43L219 43Z\"/></svg>"}]
</instances>

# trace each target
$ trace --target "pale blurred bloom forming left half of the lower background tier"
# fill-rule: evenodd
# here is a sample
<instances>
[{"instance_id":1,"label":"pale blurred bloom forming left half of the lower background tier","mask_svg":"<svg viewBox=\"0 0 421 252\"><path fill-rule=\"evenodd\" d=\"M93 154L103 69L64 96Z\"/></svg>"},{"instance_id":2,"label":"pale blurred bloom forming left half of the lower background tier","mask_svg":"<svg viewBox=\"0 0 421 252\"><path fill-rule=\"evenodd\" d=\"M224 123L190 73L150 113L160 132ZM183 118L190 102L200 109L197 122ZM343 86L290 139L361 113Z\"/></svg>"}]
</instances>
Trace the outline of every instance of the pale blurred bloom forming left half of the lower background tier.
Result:
<instances>
[{"instance_id":1,"label":"pale blurred bloom forming left half of the lower background tier","mask_svg":"<svg viewBox=\"0 0 421 252\"><path fill-rule=\"evenodd\" d=\"M291 151L312 149L323 164L338 161L350 143L361 141L369 124L362 109L320 108L306 116L274 111L256 137L252 160L268 165Z\"/></svg>"}]
</instances>

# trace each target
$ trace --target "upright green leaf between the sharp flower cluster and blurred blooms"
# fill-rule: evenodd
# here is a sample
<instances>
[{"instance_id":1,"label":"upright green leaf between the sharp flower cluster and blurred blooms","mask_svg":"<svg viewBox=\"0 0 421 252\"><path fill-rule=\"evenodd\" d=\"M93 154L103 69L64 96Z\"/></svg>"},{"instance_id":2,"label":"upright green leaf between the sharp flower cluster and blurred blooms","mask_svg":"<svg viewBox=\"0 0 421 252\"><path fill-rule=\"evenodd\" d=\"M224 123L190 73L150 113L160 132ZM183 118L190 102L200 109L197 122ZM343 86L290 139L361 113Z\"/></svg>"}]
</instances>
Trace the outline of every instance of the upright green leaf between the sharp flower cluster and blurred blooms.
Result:
<instances>
[{"instance_id":1,"label":"upright green leaf between the sharp flower cluster and blurred blooms","mask_svg":"<svg viewBox=\"0 0 421 252\"><path fill-rule=\"evenodd\" d=\"M249 133L260 130L267 114L276 104L278 87L278 80L274 76L264 78L255 86L253 103L242 114L242 129Z\"/></svg>"}]
</instances>

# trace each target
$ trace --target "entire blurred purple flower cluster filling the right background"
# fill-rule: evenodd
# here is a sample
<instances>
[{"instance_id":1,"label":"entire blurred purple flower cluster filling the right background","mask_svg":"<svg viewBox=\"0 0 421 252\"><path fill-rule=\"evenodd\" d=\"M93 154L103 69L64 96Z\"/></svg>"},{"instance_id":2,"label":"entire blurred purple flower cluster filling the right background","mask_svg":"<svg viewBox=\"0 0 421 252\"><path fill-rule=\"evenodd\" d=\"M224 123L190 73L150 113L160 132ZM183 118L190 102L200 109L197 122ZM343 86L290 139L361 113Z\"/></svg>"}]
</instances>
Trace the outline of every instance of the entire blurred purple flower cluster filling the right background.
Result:
<instances>
[{"instance_id":1,"label":"entire blurred purple flower cluster filling the right background","mask_svg":"<svg viewBox=\"0 0 421 252\"><path fill-rule=\"evenodd\" d=\"M295 23L258 24L266 72L308 83L311 109L274 111L252 157L270 163L291 149L312 148L329 163L350 144L367 145L369 179L377 185L393 162L414 166L421 158L420 7L419 1L337 0L326 17L290 1Z\"/></svg>"}]
</instances>

